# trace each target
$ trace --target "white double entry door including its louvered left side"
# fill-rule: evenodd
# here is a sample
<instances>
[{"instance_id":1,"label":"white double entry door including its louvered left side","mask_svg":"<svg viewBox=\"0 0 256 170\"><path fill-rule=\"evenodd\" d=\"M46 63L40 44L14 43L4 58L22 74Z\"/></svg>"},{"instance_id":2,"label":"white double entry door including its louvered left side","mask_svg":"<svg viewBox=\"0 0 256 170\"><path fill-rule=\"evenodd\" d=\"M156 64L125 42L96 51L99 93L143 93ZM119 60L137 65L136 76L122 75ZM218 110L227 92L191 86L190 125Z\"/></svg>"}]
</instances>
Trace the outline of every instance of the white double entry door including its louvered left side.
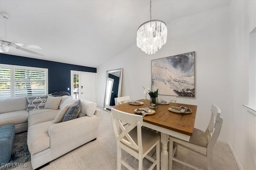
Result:
<instances>
[{"instance_id":1,"label":"white double entry door including its louvered left side","mask_svg":"<svg viewBox=\"0 0 256 170\"><path fill-rule=\"evenodd\" d=\"M71 96L96 103L96 73L71 70Z\"/></svg>"}]
</instances>

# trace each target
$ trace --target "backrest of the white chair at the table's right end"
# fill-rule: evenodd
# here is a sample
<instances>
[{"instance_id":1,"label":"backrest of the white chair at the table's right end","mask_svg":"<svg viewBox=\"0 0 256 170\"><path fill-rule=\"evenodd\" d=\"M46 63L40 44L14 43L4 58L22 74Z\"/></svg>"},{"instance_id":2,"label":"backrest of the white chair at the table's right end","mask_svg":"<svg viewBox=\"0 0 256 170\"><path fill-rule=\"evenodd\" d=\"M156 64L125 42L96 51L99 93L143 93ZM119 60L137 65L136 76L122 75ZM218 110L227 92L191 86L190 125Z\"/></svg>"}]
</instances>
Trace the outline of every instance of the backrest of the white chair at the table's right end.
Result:
<instances>
[{"instance_id":1,"label":"backrest of the white chair at the table's right end","mask_svg":"<svg viewBox=\"0 0 256 170\"><path fill-rule=\"evenodd\" d=\"M220 117L220 108L215 106L214 104L212 105L211 112L212 114L210 122L205 133L209 139L208 145L213 147L218 139L218 136L220 135L223 119L222 117Z\"/></svg>"}]
</instances>

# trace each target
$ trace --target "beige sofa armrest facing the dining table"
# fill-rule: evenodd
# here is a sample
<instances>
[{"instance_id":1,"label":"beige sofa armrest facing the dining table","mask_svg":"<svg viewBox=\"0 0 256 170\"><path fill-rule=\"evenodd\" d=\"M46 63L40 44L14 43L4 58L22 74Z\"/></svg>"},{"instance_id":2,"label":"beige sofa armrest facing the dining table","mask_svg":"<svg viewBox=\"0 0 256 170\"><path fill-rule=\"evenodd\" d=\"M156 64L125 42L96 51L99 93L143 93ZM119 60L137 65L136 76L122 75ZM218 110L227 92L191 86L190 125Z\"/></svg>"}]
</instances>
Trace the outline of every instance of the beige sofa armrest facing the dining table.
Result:
<instances>
[{"instance_id":1,"label":"beige sofa armrest facing the dining table","mask_svg":"<svg viewBox=\"0 0 256 170\"><path fill-rule=\"evenodd\" d=\"M100 117L84 116L49 127L51 159L97 138Z\"/></svg>"}]
</instances>

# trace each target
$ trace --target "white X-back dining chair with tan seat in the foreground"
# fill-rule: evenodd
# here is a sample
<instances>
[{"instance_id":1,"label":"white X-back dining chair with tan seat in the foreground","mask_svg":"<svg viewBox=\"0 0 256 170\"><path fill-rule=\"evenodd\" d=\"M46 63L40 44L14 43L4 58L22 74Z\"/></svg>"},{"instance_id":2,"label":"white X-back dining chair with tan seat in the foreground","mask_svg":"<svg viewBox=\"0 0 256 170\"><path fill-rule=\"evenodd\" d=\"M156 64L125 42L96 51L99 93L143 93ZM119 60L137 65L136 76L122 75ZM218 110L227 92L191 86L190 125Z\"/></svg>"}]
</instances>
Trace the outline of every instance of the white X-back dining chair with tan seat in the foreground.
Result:
<instances>
[{"instance_id":1,"label":"white X-back dining chair with tan seat in the foreground","mask_svg":"<svg viewBox=\"0 0 256 170\"><path fill-rule=\"evenodd\" d=\"M142 129L142 115L136 115L119 111L111 108L111 119L116 135L117 145L117 170L121 169L121 165L124 165L129 170L133 170L126 159L129 154L138 159L138 169L142 170L143 158L146 158L152 162L149 170L152 170L155 166L156 169L160 169L160 135L152 133L146 129ZM128 125L122 125L122 121L128 123ZM148 155L148 153L156 147L156 159ZM122 150L125 150L128 154L123 156Z\"/></svg>"}]
</instances>

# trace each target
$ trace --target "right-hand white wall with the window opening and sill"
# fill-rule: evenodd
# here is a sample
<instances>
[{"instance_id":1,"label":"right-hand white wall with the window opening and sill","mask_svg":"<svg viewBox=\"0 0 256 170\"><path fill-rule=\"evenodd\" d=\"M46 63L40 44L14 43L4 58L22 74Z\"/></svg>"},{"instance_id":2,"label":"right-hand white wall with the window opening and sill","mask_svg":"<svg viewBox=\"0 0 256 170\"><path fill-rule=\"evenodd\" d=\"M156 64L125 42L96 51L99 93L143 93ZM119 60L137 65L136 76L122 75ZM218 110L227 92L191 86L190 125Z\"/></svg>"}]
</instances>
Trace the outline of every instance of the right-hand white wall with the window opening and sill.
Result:
<instances>
[{"instance_id":1,"label":"right-hand white wall with the window opening and sill","mask_svg":"<svg viewBox=\"0 0 256 170\"><path fill-rule=\"evenodd\" d=\"M256 116L248 112L249 33L256 27L256 1L230 4L230 141L245 170L256 169ZM255 47L256 48L256 47Z\"/></svg>"}]
</instances>

